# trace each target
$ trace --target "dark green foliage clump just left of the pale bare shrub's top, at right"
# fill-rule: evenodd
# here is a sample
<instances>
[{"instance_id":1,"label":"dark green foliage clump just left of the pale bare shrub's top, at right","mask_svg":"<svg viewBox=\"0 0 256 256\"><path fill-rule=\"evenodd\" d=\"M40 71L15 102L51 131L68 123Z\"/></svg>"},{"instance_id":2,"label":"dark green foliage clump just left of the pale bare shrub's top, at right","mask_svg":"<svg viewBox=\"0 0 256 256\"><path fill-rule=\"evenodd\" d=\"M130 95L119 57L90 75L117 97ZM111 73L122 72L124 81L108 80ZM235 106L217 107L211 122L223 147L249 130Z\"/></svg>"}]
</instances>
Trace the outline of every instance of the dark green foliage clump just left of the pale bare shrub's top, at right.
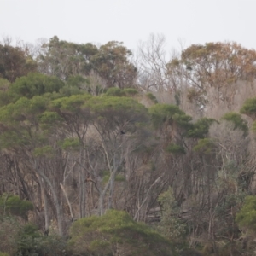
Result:
<instances>
[{"instance_id":1,"label":"dark green foliage clump just left of the pale bare shrub's top, at right","mask_svg":"<svg viewBox=\"0 0 256 256\"><path fill-rule=\"evenodd\" d=\"M207 136L210 126L215 119L201 118L193 124L192 129L187 133L188 137L204 138Z\"/></svg>"}]
</instances>

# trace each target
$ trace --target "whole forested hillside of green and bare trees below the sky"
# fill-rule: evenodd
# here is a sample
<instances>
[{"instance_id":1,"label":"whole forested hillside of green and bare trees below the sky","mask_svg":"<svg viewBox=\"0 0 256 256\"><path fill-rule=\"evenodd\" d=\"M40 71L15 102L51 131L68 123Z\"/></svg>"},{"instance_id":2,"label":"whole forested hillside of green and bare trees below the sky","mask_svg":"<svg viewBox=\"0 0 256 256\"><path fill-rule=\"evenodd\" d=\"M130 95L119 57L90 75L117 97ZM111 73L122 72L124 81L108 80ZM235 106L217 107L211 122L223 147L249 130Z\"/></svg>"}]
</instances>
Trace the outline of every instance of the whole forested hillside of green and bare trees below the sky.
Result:
<instances>
[{"instance_id":1,"label":"whole forested hillside of green and bare trees below the sky","mask_svg":"<svg viewBox=\"0 0 256 256\"><path fill-rule=\"evenodd\" d=\"M0 255L253 255L255 79L235 42L3 40Z\"/></svg>"}]
</instances>

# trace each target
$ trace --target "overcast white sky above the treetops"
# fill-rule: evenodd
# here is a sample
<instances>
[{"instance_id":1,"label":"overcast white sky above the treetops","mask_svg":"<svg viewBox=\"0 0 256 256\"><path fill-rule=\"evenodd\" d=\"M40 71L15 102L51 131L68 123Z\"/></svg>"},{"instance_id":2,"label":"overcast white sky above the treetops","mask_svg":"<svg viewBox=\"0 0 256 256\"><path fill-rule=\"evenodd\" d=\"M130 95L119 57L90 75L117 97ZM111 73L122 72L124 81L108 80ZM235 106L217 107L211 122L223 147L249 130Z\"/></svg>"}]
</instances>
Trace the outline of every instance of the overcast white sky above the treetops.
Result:
<instances>
[{"instance_id":1,"label":"overcast white sky above the treetops","mask_svg":"<svg viewBox=\"0 0 256 256\"><path fill-rule=\"evenodd\" d=\"M162 33L169 49L236 41L256 49L256 0L0 0L0 36L35 43L38 38L136 49Z\"/></svg>"}]
</instances>

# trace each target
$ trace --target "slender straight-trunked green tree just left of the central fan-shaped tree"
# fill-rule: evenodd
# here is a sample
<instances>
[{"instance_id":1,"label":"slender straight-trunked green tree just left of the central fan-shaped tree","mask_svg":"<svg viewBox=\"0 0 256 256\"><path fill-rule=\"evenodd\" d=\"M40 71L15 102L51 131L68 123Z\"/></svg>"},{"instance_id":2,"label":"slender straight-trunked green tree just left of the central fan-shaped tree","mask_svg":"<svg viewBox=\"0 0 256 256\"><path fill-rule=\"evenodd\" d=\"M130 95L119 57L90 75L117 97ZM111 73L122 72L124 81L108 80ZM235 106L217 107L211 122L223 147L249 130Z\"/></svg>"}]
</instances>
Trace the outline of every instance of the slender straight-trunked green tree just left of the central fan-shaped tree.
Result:
<instances>
[{"instance_id":1,"label":"slender straight-trunked green tree just left of the central fan-shaped tree","mask_svg":"<svg viewBox=\"0 0 256 256\"><path fill-rule=\"evenodd\" d=\"M85 178L86 173L85 164L85 148L86 148L86 134L91 125L90 108L86 108L86 103L90 100L90 95L73 95L69 97L62 97L49 103L49 116L54 114L61 120L61 127L63 135L59 140L61 148L67 152L67 158L72 154L71 148L76 148L78 153L73 155L73 163L79 163L79 217L85 216L85 206L87 201L85 199ZM49 126L55 127L55 119L47 119L45 121ZM55 130L58 128L55 127ZM63 186L65 186L65 179ZM64 187L63 187L64 188ZM70 206L71 207L71 206ZM72 212L72 209L70 209ZM73 218L73 217L72 217Z\"/></svg>"}]
</instances>

